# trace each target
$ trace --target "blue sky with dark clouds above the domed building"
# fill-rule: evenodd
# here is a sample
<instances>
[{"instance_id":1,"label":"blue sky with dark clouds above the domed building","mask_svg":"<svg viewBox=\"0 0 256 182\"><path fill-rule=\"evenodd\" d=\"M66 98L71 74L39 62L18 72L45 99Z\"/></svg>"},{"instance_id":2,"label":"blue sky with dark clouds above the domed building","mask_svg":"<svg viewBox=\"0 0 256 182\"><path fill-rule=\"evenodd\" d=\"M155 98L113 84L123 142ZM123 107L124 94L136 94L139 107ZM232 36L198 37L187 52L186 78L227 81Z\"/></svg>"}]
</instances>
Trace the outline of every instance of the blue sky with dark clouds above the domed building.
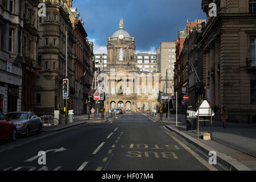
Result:
<instances>
[{"instance_id":1,"label":"blue sky with dark clouds above the domed building","mask_svg":"<svg viewBox=\"0 0 256 182\"><path fill-rule=\"evenodd\" d=\"M73 0L94 53L107 53L108 36L123 27L135 38L136 53L156 53L160 42L175 42L187 20L206 19L201 0Z\"/></svg>"}]
</instances>

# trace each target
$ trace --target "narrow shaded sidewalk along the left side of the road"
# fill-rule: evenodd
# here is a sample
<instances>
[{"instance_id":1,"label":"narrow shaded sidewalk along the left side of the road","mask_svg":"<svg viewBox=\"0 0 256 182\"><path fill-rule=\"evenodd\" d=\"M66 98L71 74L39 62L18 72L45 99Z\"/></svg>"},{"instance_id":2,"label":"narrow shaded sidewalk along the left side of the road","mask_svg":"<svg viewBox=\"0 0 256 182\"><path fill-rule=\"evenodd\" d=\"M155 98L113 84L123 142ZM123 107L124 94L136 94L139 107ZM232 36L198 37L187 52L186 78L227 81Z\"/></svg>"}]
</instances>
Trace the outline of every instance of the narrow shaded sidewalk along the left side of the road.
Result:
<instances>
[{"instance_id":1,"label":"narrow shaded sidewalk along the left side of the road","mask_svg":"<svg viewBox=\"0 0 256 182\"><path fill-rule=\"evenodd\" d=\"M101 115L95 119L95 117L90 116L90 119L88 119L88 114L84 115L75 115L74 116L74 122L68 123L68 125L65 125L65 118L62 118L62 123L59 124L57 127L43 127L42 132L49 132L49 131L60 131L64 129L68 129L69 127L82 125L84 123L104 123L109 121L108 114L104 115L105 119L101 119Z\"/></svg>"}]
</instances>

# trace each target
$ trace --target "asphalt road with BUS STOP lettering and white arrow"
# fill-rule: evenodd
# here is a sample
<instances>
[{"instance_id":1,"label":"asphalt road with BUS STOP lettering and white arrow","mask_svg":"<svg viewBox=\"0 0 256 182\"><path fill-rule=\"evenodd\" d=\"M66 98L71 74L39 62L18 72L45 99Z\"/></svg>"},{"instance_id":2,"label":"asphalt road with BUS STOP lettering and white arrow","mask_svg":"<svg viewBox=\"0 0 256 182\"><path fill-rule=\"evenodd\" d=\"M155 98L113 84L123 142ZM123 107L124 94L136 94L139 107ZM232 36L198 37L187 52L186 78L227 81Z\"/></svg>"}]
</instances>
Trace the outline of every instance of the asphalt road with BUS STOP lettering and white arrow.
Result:
<instances>
[{"instance_id":1,"label":"asphalt road with BUS STOP lettering and white arrow","mask_svg":"<svg viewBox=\"0 0 256 182\"><path fill-rule=\"evenodd\" d=\"M46 165L38 156L46 151ZM125 114L106 123L0 143L0 171L214 170L163 123Z\"/></svg>"}]
</instances>

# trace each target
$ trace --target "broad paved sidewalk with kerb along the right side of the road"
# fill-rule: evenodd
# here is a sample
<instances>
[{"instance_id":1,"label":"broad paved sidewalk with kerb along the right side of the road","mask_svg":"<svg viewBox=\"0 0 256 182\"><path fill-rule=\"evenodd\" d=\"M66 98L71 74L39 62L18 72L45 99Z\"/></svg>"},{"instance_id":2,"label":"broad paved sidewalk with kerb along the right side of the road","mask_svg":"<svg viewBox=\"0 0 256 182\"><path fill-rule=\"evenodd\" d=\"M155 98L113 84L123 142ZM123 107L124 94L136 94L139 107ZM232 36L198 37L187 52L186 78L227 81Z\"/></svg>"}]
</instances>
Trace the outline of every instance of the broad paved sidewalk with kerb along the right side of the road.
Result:
<instances>
[{"instance_id":1,"label":"broad paved sidewalk with kerb along the right side of the road","mask_svg":"<svg viewBox=\"0 0 256 182\"><path fill-rule=\"evenodd\" d=\"M226 129L223 129L222 123L213 121L212 140L203 140L197 138L197 129L187 131L185 115L178 114L176 127L176 114L171 114L166 118L164 114L162 121L160 117L152 117L146 114L156 122L166 124L166 127L187 140L193 146L200 150L204 155L210 151L217 152L217 160L220 166L229 170L250 171L256 170L256 125L247 123L226 123ZM210 133L210 122L200 123L199 135Z\"/></svg>"}]
</instances>

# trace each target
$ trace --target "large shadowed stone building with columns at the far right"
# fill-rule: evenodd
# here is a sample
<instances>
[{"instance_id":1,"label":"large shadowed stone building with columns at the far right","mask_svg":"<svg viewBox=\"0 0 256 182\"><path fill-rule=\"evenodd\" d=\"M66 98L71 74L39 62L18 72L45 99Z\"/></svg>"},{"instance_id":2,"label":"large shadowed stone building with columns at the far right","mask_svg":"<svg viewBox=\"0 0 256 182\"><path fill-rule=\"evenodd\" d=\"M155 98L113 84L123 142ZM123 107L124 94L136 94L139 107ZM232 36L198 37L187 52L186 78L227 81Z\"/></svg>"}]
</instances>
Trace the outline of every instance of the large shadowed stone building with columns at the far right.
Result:
<instances>
[{"instance_id":1,"label":"large shadowed stone building with columns at the far right","mask_svg":"<svg viewBox=\"0 0 256 182\"><path fill-rule=\"evenodd\" d=\"M209 16L209 3L216 3L217 16ZM201 38L205 99L217 114L226 106L232 122L247 122L247 114L255 121L255 5L254 0L201 3L208 20Z\"/></svg>"}]
</instances>

